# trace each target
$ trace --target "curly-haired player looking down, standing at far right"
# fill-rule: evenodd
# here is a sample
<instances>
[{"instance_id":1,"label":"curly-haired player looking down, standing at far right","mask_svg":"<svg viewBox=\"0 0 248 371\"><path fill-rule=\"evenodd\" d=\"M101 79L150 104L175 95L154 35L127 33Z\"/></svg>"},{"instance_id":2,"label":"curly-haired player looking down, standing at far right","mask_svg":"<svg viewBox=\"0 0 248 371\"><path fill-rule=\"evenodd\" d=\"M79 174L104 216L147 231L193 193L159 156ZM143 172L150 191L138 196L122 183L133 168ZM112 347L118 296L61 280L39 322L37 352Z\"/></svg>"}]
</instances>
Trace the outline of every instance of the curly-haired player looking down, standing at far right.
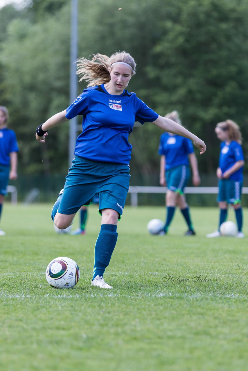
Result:
<instances>
[{"instance_id":1,"label":"curly-haired player looking down, standing at far right","mask_svg":"<svg viewBox=\"0 0 248 371\"><path fill-rule=\"evenodd\" d=\"M216 175L219 178L219 228L207 237L219 237L220 225L226 220L228 204L235 210L238 233L236 237L244 237L242 232L243 213L241 207L241 190L243 184L244 155L242 151L242 135L239 126L232 120L219 122L215 133L220 139L219 167Z\"/></svg>"}]
</instances>

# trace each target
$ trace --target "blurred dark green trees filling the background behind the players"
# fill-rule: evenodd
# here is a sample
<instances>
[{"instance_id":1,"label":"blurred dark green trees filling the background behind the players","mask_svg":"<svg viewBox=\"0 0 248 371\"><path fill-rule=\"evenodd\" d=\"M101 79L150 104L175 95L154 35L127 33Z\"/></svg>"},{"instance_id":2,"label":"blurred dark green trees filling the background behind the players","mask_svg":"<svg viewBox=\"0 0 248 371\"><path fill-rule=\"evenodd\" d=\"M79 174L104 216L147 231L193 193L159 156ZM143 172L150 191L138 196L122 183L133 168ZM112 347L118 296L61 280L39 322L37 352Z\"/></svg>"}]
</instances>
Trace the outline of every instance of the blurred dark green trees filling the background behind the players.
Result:
<instances>
[{"instance_id":1,"label":"blurred dark green trees filling the background behind the players","mask_svg":"<svg viewBox=\"0 0 248 371\"><path fill-rule=\"evenodd\" d=\"M52 129L45 145L35 142L34 132L70 104L70 5L35 0L18 12L0 11L1 104L10 110L25 174L67 171L68 124ZM131 53L138 65L129 91L162 116L176 109L183 125L206 142L200 171L214 173L216 123L231 118L248 135L247 17L246 0L78 1L78 55ZM158 174L160 135L152 124L134 128L135 175Z\"/></svg>"}]
</instances>

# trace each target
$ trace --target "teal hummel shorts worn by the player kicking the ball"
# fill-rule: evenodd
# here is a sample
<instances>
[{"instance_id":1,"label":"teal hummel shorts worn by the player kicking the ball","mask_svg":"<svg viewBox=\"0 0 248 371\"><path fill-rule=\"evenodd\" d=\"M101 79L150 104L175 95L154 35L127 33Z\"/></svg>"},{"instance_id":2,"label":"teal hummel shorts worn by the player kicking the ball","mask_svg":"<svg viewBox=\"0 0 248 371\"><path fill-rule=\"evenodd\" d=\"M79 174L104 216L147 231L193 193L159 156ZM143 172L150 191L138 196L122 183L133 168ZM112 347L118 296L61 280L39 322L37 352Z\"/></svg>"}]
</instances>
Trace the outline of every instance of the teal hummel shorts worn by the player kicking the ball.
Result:
<instances>
[{"instance_id":1,"label":"teal hummel shorts worn by the player kicking the ball","mask_svg":"<svg viewBox=\"0 0 248 371\"><path fill-rule=\"evenodd\" d=\"M82 205L89 205L99 194L99 212L113 209L122 215L129 189L129 166L86 160L75 156L65 178L64 191L59 204L61 214L74 214Z\"/></svg>"}]
</instances>

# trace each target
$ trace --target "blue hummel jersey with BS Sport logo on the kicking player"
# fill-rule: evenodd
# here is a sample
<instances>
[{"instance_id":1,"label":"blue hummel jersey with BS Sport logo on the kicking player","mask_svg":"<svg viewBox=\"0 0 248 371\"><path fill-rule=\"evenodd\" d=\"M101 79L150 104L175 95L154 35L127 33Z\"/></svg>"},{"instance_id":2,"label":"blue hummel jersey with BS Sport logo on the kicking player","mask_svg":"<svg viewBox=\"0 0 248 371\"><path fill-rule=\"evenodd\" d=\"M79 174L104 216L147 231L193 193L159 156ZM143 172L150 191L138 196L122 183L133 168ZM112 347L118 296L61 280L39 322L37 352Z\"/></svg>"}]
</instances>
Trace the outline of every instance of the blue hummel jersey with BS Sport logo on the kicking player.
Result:
<instances>
[{"instance_id":1,"label":"blue hummel jersey with BS Sport logo on the kicking player","mask_svg":"<svg viewBox=\"0 0 248 371\"><path fill-rule=\"evenodd\" d=\"M129 164L132 146L128 136L135 121L152 122L158 114L135 93L124 90L109 94L104 85L84 89L67 108L66 117L83 116L83 131L75 145L75 155L92 161Z\"/></svg>"}]
</instances>

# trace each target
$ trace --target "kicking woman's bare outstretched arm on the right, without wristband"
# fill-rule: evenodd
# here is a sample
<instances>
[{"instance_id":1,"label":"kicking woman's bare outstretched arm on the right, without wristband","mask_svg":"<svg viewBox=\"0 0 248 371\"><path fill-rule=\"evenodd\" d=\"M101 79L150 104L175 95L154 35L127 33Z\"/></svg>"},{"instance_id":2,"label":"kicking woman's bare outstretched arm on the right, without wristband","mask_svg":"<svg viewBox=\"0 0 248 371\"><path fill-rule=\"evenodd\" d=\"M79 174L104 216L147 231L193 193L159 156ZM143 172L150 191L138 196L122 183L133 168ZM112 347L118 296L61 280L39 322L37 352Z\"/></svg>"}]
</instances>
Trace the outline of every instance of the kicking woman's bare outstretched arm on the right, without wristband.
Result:
<instances>
[{"instance_id":1,"label":"kicking woman's bare outstretched arm on the right, without wristband","mask_svg":"<svg viewBox=\"0 0 248 371\"><path fill-rule=\"evenodd\" d=\"M199 148L200 155L206 151L206 144L202 141L202 139L198 138L189 130L185 129L183 126L177 124L176 122L170 120L169 118L158 116L157 120L153 121L152 124L156 125L161 130L168 131L172 134L181 135L182 137L191 139L193 144L197 148Z\"/></svg>"}]
</instances>

